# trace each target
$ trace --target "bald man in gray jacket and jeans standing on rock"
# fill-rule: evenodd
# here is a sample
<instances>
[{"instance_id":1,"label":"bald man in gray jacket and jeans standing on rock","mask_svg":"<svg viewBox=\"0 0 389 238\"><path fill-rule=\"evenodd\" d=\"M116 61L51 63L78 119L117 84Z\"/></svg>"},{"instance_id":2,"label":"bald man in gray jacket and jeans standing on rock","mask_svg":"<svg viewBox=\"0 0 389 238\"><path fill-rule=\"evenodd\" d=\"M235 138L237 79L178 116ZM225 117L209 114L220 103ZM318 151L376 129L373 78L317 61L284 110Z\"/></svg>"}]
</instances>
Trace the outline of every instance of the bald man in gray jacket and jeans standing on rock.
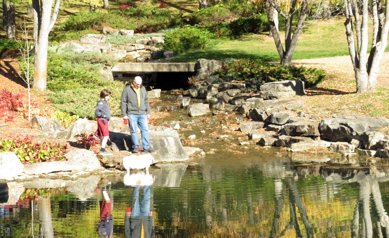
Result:
<instances>
[{"instance_id":1,"label":"bald man in gray jacket and jeans standing on rock","mask_svg":"<svg viewBox=\"0 0 389 238\"><path fill-rule=\"evenodd\" d=\"M124 87L121 108L123 119L129 120L128 124L133 143L132 153L138 153L140 150L137 127L141 130L143 152L155 152L156 150L150 147L147 126L147 119L150 118L149 98L146 88L142 86L142 78L140 76L136 76L131 84Z\"/></svg>"}]
</instances>

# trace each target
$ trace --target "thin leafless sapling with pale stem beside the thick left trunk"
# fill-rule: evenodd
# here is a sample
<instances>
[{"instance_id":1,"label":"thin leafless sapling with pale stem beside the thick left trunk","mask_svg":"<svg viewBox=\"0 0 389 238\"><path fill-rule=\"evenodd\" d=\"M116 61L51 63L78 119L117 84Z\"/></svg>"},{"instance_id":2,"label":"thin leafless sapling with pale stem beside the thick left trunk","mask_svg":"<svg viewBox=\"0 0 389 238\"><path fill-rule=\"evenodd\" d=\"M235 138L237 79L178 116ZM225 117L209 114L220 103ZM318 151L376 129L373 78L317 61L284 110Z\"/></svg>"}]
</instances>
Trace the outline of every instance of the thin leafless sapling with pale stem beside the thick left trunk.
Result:
<instances>
[{"instance_id":1,"label":"thin leafless sapling with pale stem beside the thick left trunk","mask_svg":"<svg viewBox=\"0 0 389 238\"><path fill-rule=\"evenodd\" d=\"M31 74L30 68L33 64L33 57L30 56L32 49L34 48L34 44L31 44L28 39L28 29L26 28L26 23L23 22L23 26L21 26L21 30L24 33L24 39L19 41L19 51L22 55L22 59L26 66L26 70L24 70L24 76L21 78L27 84L28 91L28 120L31 119Z\"/></svg>"}]
</instances>

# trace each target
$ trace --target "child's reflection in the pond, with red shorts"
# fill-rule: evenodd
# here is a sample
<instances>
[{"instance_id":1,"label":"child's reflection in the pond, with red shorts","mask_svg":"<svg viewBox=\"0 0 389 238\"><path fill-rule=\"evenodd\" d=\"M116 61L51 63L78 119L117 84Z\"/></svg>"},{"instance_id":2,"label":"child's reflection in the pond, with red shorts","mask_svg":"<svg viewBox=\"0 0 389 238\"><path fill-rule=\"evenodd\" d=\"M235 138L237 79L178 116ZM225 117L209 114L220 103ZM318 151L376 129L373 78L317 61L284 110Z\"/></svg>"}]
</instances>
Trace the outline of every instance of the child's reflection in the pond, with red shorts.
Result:
<instances>
[{"instance_id":1,"label":"child's reflection in the pond, with red shorts","mask_svg":"<svg viewBox=\"0 0 389 238\"><path fill-rule=\"evenodd\" d=\"M100 201L99 231L103 237L112 238L113 217L111 215L111 200L106 190L103 190L103 201Z\"/></svg>"}]
</instances>

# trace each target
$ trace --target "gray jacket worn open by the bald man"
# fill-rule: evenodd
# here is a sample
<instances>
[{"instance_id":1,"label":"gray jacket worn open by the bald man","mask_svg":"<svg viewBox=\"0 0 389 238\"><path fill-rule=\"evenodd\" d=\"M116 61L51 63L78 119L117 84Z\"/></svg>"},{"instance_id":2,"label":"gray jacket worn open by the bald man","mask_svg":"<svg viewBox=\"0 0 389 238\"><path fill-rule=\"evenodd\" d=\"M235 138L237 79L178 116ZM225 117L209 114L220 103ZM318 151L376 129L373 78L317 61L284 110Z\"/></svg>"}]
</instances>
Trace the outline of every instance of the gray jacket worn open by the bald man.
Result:
<instances>
[{"instance_id":1,"label":"gray jacket worn open by the bald man","mask_svg":"<svg viewBox=\"0 0 389 238\"><path fill-rule=\"evenodd\" d=\"M139 115L150 114L149 98L144 86L141 86L141 106L138 108L138 98L132 85L126 85L122 92L122 102L120 103L122 108L122 116L126 115Z\"/></svg>"}]
</instances>

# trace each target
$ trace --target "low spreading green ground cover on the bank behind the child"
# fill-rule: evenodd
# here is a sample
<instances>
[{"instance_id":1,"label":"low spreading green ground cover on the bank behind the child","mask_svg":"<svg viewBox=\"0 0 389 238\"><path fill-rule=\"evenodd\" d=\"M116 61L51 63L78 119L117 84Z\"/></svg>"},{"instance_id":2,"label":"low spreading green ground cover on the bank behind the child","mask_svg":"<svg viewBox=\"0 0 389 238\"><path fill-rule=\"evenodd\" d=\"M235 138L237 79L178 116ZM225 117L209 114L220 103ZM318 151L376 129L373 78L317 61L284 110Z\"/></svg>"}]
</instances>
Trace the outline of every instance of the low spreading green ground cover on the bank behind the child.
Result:
<instances>
[{"instance_id":1,"label":"low spreading green ground cover on the bank behind the child","mask_svg":"<svg viewBox=\"0 0 389 238\"><path fill-rule=\"evenodd\" d=\"M95 119L94 110L102 89L112 92L112 105L120 104L124 83L101 79L99 68L113 65L110 58L96 53L76 53L67 49L50 51L47 87L53 107L80 118ZM120 108L111 107L113 116L120 116Z\"/></svg>"}]
</instances>

